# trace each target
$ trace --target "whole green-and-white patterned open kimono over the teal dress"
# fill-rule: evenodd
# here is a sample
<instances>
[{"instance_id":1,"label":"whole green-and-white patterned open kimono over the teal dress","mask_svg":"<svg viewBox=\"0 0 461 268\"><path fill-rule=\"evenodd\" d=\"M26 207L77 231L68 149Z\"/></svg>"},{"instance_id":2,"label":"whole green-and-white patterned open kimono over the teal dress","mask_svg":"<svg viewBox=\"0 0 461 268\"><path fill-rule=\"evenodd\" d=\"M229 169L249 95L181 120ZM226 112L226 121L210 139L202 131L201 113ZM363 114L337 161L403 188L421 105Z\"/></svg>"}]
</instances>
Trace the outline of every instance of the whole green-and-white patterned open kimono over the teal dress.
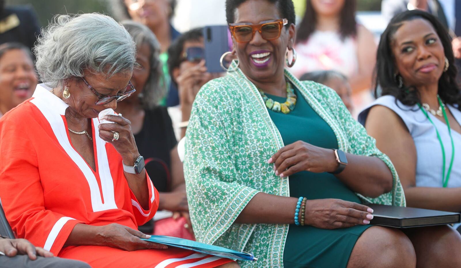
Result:
<instances>
[{"instance_id":1,"label":"whole green-and-white patterned open kimono over the teal dress","mask_svg":"<svg viewBox=\"0 0 461 268\"><path fill-rule=\"evenodd\" d=\"M370 203L404 206L394 166L336 92L315 82L300 82L287 70L285 76L330 125L339 149L378 157L391 170L391 192L378 198L357 195ZM239 262L242 267L283 267L288 224L233 224L258 192L290 196L288 178L276 176L272 164L266 163L284 146L282 137L257 88L240 69L201 88L186 137L184 175L197 241L252 252L259 259Z\"/></svg>"}]
</instances>

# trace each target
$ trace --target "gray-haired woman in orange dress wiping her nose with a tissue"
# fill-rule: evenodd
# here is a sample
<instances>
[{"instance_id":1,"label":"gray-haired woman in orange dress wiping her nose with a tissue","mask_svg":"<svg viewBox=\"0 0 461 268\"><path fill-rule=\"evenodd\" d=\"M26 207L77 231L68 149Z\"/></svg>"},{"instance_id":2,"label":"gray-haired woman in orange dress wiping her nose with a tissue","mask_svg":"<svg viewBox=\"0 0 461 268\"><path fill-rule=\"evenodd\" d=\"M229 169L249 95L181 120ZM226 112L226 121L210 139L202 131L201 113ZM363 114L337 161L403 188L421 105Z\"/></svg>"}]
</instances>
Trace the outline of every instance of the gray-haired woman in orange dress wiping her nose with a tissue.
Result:
<instances>
[{"instance_id":1,"label":"gray-haired woman in orange dress wiping her nose with a tissue","mask_svg":"<svg viewBox=\"0 0 461 268\"><path fill-rule=\"evenodd\" d=\"M18 237L93 267L235 265L137 230L159 194L131 122L111 110L136 91L126 29L100 14L58 16L35 55L45 83L0 119L0 198Z\"/></svg>"}]
</instances>

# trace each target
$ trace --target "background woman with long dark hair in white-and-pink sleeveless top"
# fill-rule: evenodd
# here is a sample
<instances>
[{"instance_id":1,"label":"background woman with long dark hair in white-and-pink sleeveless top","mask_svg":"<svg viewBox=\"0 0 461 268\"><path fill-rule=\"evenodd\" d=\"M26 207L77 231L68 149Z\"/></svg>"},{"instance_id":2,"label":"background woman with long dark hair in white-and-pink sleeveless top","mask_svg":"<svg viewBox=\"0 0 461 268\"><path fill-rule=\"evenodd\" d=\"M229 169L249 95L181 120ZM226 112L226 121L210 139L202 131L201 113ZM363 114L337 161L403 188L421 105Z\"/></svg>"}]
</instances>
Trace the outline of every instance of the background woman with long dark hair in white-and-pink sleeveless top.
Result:
<instances>
[{"instance_id":1,"label":"background woman with long dark hair in white-and-pink sleeveless top","mask_svg":"<svg viewBox=\"0 0 461 268\"><path fill-rule=\"evenodd\" d=\"M307 0L298 27L297 61L290 71L301 77L316 70L336 70L349 78L356 107L371 102L376 43L355 21L356 0Z\"/></svg>"}]
</instances>

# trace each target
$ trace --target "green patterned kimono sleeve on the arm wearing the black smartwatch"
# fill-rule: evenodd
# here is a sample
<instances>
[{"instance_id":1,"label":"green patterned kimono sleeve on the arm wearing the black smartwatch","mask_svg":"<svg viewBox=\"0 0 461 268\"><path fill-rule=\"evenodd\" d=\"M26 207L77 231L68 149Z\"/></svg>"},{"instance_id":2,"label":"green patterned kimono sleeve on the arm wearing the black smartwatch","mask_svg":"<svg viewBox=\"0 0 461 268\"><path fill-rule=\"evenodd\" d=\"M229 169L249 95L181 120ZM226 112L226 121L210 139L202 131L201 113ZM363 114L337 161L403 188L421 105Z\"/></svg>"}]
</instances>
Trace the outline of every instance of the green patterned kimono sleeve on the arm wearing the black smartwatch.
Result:
<instances>
[{"instance_id":1,"label":"green patterned kimono sleeve on the arm wearing the black smartwatch","mask_svg":"<svg viewBox=\"0 0 461 268\"><path fill-rule=\"evenodd\" d=\"M329 109L331 114L335 117L341 126L346 138L348 139L349 146L347 152L355 155L373 156L383 160L389 167L392 177L392 191L385 193L377 198L363 197L358 194L365 201L374 204L387 204L395 206L405 206L405 196L403 193L402 184L400 183L397 171L390 162L389 157L378 150L376 147L376 140L366 133L366 129L356 121L347 110L341 98L331 88L313 82L303 82L307 88L313 88L313 94L319 100L325 109Z\"/></svg>"}]
</instances>

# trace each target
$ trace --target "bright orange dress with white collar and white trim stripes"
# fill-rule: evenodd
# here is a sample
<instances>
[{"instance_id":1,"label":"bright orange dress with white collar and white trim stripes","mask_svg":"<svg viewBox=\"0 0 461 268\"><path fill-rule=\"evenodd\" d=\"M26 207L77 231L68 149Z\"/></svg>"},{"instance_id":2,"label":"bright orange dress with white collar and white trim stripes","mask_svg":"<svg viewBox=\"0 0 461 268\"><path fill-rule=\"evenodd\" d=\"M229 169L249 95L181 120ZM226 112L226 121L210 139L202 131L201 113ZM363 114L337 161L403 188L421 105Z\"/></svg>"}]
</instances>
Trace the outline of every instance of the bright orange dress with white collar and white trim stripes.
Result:
<instances>
[{"instance_id":1,"label":"bright orange dress with white collar and white trim stripes","mask_svg":"<svg viewBox=\"0 0 461 268\"><path fill-rule=\"evenodd\" d=\"M169 248L123 251L108 246L63 247L77 223L118 223L133 229L150 220L159 193L149 176L144 210L124 176L122 157L100 139L92 119L96 170L72 146L64 117L68 105L37 85L34 95L0 119L0 198L19 238L55 256L93 267L215 267L231 260ZM97 116L97 115L95 115Z\"/></svg>"}]
</instances>

